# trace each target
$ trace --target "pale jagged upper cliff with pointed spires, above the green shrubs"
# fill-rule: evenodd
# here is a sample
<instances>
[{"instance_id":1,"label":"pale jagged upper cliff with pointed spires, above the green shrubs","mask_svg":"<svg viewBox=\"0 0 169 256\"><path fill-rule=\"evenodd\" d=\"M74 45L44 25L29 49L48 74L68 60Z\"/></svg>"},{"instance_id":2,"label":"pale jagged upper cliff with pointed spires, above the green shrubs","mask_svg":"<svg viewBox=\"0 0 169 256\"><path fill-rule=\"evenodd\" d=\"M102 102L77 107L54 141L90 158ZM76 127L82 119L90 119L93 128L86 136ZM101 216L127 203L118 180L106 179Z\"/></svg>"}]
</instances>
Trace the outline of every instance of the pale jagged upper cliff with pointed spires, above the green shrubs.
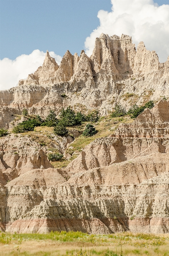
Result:
<instances>
[{"instance_id":1,"label":"pale jagged upper cliff with pointed spires, above the green shrubs","mask_svg":"<svg viewBox=\"0 0 169 256\"><path fill-rule=\"evenodd\" d=\"M104 116L116 101L129 107L168 95L169 58L160 63L143 42L136 51L128 35L101 34L90 58L84 50L80 56L67 51L58 66L47 51L35 73L17 87L0 91L0 128L8 128L23 108L46 117L49 109L58 114L70 105L78 111L98 109Z\"/></svg>"}]
</instances>

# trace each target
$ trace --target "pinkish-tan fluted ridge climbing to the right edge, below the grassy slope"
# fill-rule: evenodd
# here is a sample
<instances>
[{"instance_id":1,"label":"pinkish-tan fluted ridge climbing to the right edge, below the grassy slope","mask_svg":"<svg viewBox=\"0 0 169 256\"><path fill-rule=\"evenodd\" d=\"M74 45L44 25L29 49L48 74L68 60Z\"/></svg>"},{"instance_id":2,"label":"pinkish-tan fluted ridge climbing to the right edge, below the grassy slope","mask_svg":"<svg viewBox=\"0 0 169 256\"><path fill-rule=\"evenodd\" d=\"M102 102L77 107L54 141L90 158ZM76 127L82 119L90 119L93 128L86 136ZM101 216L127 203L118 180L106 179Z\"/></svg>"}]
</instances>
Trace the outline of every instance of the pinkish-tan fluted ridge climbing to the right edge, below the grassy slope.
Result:
<instances>
[{"instance_id":1,"label":"pinkish-tan fluted ridge climbing to the right edge, below the grassy slope","mask_svg":"<svg viewBox=\"0 0 169 256\"><path fill-rule=\"evenodd\" d=\"M169 152L169 102L163 99L133 123L121 124L115 135L91 142L66 170L74 174L156 152Z\"/></svg>"}]
</instances>

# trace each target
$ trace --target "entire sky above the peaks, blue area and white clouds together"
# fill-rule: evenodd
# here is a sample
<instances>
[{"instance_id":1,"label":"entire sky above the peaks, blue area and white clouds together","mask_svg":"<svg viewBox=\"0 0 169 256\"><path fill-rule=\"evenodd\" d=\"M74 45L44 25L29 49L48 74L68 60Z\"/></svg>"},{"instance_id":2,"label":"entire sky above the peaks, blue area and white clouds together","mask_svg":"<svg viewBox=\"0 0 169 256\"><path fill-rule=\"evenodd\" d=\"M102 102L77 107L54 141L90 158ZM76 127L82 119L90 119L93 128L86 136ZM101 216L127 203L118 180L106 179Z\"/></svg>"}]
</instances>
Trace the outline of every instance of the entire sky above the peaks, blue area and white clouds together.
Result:
<instances>
[{"instance_id":1,"label":"entire sky above the peaks, blue area and white clouds together","mask_svg":"<svg viewBox=\"0 0 169 256\"><path fill-rule=\"evenodd\" d=\"M60 61L69 50L90 56L101 33L169 56L169 0L0 0L0 90L42 66L45 52Z\"/></svg>"}]
</instances>

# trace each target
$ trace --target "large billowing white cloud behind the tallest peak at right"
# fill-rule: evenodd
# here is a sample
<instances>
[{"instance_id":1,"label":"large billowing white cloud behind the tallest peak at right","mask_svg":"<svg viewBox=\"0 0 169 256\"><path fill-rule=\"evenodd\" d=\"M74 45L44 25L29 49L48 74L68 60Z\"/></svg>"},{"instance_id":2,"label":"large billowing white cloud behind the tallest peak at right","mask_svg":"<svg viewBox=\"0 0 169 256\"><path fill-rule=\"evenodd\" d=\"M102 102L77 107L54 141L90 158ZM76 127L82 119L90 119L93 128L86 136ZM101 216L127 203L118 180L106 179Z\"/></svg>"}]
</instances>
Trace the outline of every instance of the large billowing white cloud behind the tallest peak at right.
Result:
<instances>
[{"instance_id":1,"label":"large billowing white cloud behind the tallest peak at right","mask_svg":"<svg viewBox=\"0 0 169 256\"><path fill-rule=\"evenodd\" d=\"M100 26L86 38L86 54L90 56L95 38L101 33L126 34L133 43L145 43L147 50L155 50L160 62L169 55L169 5L158 6L153 0L111 0L112 12L100 10Z\"/></svg>"}]
</instances>

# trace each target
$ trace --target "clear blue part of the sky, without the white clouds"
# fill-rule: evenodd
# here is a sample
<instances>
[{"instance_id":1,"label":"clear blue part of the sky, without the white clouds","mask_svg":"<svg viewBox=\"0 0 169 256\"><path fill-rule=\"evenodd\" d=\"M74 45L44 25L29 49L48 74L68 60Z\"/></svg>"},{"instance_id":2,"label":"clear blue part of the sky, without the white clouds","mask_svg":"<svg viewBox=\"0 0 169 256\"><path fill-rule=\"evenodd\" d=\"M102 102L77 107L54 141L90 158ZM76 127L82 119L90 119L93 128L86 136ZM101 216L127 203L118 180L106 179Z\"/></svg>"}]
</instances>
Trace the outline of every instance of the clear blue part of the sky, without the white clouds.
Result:
<instances>
[{"instance_id":1,"label":"clear blue part of the sky, without the white clouds","mask_svg":"<svg viewBox=\"0 0 169 256\"><path fill-rule=\"evenodd\" d=\"M98 11L110 12L111 7L110 0L0 0L0 59L35 49L80 54L86 37L100 24Z\"/></svg>"}]
</instances>

